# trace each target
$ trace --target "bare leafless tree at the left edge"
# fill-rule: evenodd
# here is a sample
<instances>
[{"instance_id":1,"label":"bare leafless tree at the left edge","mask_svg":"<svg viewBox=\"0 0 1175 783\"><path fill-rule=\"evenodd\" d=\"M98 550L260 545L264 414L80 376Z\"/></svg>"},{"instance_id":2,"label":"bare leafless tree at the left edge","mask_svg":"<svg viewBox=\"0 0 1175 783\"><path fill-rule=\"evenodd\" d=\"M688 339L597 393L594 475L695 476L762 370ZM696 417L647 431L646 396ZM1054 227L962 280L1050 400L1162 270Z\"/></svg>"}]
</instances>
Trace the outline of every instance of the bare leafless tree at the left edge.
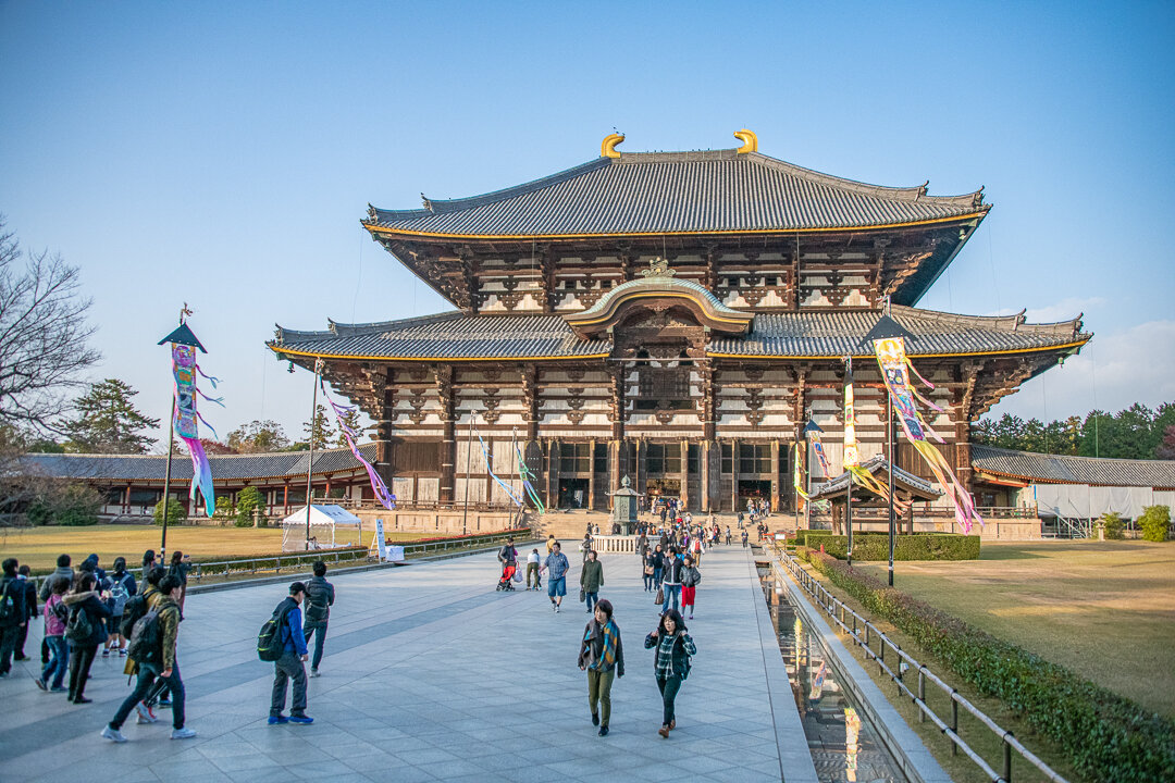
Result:
<instances>
[{"instance_id":1,"label":"bare leafless tree at the left edge","mask_svg":"<svg viewBox=\"0 0 1175 783\"><path fill-rule=\"evenodd\" d=\"M26 254L0 216L0 421L60 432L68 392L101 355L87 343L90 299L60 255Z\"/></svg>"}]
</instances>

